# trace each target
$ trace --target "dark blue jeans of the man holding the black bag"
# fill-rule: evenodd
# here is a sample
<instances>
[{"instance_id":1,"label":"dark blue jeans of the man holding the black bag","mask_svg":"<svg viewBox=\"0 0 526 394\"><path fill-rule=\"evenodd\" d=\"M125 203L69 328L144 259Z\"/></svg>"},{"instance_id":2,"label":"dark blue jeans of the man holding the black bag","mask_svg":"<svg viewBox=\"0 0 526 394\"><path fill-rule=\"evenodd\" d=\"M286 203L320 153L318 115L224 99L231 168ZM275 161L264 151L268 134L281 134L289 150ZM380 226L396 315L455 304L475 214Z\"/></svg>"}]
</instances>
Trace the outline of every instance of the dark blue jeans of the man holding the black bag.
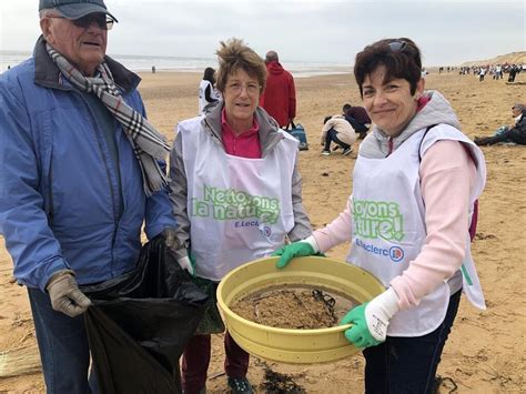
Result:
<instances>
[{"instance_id":1,"label":"dark blue jeans of the man holding the black bag","mask_svg":"<svg viewBox=\"0 0 526 394\"><path fill-rule=\"evenodd\" d=\"M69 317L53 311L47 293L29 289L37 341L48 393L98 392L95 374L90 376L90 350L84 317ZM92 388L90 388L90 385Z\"/></svg>"}]
</instances>

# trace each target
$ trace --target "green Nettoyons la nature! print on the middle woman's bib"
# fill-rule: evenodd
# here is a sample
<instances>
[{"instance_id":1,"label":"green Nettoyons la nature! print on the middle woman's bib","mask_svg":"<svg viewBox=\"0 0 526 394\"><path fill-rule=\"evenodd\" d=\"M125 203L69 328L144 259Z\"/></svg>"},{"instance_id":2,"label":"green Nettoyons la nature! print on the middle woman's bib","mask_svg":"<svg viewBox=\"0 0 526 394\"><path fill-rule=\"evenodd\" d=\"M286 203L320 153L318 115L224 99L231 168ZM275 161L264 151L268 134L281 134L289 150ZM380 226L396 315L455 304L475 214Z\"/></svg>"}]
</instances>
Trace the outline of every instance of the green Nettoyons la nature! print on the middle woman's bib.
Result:
<instances>
[{"instance_id":1,"label":"green Nettoyons la nature! print on the middle woman's bib","mask_svg":"<svg viewBox=\"0 0 526 394\"><path fill-rule=\"evenodd\" d=\"M236 222L240 228L259 226L260 223L275 224L280 218L280 201L262 195L251 195L235 189L219 189L204 185L203 199L191 200L192 216L215 220L257 219ZM241 224L240 224L241 223ZM270 230L269 230L270 232Z\"/></svg>"}]
</instances>

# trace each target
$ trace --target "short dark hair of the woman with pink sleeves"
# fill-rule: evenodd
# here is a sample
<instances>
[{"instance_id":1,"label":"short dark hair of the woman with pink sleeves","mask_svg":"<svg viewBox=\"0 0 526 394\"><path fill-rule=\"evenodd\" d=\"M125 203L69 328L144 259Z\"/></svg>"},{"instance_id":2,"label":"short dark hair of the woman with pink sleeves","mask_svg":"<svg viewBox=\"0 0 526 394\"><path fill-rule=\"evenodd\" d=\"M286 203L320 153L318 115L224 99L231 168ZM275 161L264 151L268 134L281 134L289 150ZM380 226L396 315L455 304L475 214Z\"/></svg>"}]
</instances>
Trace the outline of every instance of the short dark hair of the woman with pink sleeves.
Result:
<instances>
[{"instance_id":1,"label":"short dark hair of the woman with pink sleeves","mask_svg":"<svg viewBox=\"0 0 526 394\"><path fill-rule=\"evenodd\" d=\"M363 97L365 78L378 67L385 67L385 81L401 78L409 82L411 94L415 94L416 84L422 78L421 51L408 38L384 39L372 43L356 54L354 78Z\"/></svg>"}]
</instances>

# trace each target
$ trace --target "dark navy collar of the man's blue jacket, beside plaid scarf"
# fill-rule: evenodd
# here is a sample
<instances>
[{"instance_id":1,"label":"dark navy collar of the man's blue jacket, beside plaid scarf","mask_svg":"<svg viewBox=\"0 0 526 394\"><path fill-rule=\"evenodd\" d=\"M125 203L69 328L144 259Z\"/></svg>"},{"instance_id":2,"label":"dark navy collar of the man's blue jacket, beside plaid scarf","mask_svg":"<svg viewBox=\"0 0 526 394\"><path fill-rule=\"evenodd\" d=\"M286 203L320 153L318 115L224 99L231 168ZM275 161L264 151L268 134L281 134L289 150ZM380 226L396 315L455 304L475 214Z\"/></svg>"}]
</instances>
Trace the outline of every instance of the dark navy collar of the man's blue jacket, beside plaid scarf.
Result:
<instances>
[{"instance_id":1,"label":"dark navy collar of the man's blue jacket, beside plaid scarf","mask_svg":"<svg viewBox=\"0 0 526 394\"><path fill-rule=\"evenodd\" d=\"M73 89L69 83L63 82L60 70L54 64L53 60L49 57L48 51L45 50L45 40L43 36L40 36L33 50L34 58L34 83L40 84L44 88L50 89L60 89L60 90L71 90ZM113 74L113 80L115 84L124 92L129 93L134 90L141 78L128 70L124 65L111 59L110 57L104 57L108 67Z\"/></svg>"}]
</instances>

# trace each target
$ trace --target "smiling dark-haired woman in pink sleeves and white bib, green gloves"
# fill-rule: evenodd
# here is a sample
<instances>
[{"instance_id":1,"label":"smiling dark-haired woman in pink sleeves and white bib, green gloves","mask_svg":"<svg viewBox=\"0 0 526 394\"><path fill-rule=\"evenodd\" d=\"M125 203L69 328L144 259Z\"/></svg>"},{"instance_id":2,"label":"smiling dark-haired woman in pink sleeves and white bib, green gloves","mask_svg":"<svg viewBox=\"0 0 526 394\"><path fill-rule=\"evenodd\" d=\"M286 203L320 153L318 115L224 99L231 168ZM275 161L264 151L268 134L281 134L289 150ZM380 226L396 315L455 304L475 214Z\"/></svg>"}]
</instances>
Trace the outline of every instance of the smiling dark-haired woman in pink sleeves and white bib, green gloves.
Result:
<instances>
[{"instance_id":1,"label":"smiling dark-haired woman in pink sleeves and white bib, green gloves","mask_svg":"<svg viewBox=\"0 0 526 394\"><path fill-rule=\"evenodd\" d=\"M471 253L484 156L446 99L424 91L421 68L406 38L356 54L354 75L374 128L360 145L353 194L332 223L275 252L283 267L351 240L347 262L386 286L341 321L363 348L366 393L433 392L462 292L485 309Z\"/></svg>"}]
</instances>

